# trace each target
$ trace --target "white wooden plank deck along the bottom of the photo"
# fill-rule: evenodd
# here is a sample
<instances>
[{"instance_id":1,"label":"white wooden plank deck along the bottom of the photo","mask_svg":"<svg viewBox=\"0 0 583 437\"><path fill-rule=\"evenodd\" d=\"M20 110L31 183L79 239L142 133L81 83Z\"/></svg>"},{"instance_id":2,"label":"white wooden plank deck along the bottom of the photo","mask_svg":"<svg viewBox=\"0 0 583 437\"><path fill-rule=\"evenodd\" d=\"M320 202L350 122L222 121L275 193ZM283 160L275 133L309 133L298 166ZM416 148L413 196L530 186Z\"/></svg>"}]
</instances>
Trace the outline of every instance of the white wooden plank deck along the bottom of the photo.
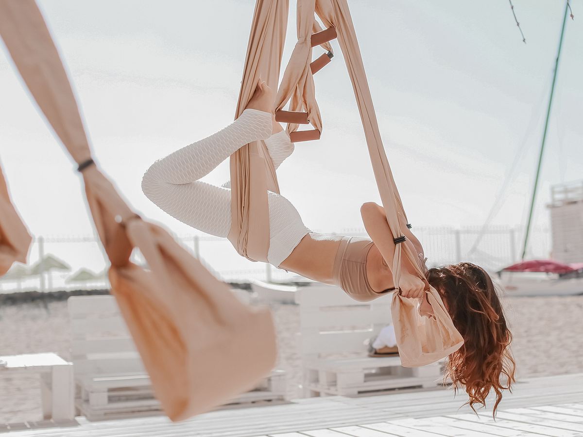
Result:
<instances>
[{"instance_id":1,"label":"white wooden plank deck along the bottom of the photo","mask_svg":"<svg viewBox=\"0 0 583 437\"><path fill-rule=\"evenodd\" d=\"M12 437L388 437L583 436L583 374L523 379L505 396L493 421L462 407L465 393L402 392L349 398L299 399L290 404L220 410L188 421L165 417L77 423L9 431ZM57 425L57 426L55 426ZM8 431L8 430L7 430Z\"/></svg>"}]
</instances>

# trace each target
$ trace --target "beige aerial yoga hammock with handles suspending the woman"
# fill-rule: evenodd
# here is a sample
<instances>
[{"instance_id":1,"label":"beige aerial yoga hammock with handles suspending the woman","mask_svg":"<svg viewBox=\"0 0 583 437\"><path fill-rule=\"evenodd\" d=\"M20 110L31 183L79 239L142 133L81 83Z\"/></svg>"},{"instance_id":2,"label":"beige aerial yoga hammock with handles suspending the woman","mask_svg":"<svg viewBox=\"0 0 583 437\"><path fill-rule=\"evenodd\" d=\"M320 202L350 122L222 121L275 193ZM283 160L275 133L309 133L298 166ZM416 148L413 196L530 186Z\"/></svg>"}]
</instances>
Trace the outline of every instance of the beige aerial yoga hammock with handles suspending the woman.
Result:
<instances>
[{"instance_id":1,"label":"beige aerial yoga hammock with handles suspending the woman","mask_svg":"<svg viewBox=\"0 0 583 437\"><path fill-rule=\"evenodd\" d=\"M287 1L285 3L287 6ZM407 219L382 145L373 101L347 2L346 0L298 0L297 5L298 42L279 87L275 108L278 111L276 115L279 113L280 121L293 118L294 122L287 126L287 132L290 134L303 134L304 132L297 132L298 123L309 122L317 134L308 134L308 138L319 138L322 120L315 101L313 73L310 68L312 63L311 46L320 42L319 40L312 41L312 38L317 35L315 31L319 30L319 26L315 24L314 14L317 14L324 26L328 27L328 32L335 33L333 36L337 35L352 80L375 180L387 215L387 226L383 230L387 235L391 235L393 240L402 240L402 227L406 225ZM262 77L266 77L269 74L269 64L266 61L262 63L264 69L256 72L255 77L247 74L251 66L257 65L254 63L255 59L269 58L271 55L271 50L258 40L259 28L255 27L255 24L258 24L262 29L259 33L265 34L269 31L269 24L273 22L266 19L261 20L261 16L265 15L266 10L277 10L279 7L278 0L257 1L237 115L250 99L252 90L257 84L257 75L261 74ZM273 26L282 29L283 24L275 22ZM278 33L279 35L280 33ZM272 46L276 44L279 47L283 42L277 40L271 41L271 44ZM273 66L272 64L271 66L279 72L279 65ZM272 83L269 85L272 86ZM282 114L282 108L290 98L291 112L284 111ZM291 139L294 140L293 137ZM304 138L300 137L299 139ZM257 159L252 163L250 158L243 156L244 152L241 150L231 155L231 184L237 187L231 193L232 211L233 218L237 218L237 220L233 219L229 239L240 254L254 261L266 261L269 248L269 211L266 190L279 193L277 177L273 172L271 159L265 158L268 155L266 155L264 147L261 147L261 153L255 155ZM259 162L261 159L264 161L262 165ZM254 178L265 178L265 183L251 183L257 182L257 179ZM399 289L403 257L409 259L410 264L415 268L416 276L423 280L426 285L425 299L431 306L431 311L422 315L417 309L417 300L405 299L400 294L394 296L391 312L402 365L417 367L434 363L459 349L463 344L463 338L445 310L440 294L427 282L410 241L406 240L396 244L394 257L391 247L391 244L394 244L393 241L390 241L390 244L387 244L386 241L375 241L375 244L385 260L392 263L396 289Z\"/></svg>"}]
</instances>

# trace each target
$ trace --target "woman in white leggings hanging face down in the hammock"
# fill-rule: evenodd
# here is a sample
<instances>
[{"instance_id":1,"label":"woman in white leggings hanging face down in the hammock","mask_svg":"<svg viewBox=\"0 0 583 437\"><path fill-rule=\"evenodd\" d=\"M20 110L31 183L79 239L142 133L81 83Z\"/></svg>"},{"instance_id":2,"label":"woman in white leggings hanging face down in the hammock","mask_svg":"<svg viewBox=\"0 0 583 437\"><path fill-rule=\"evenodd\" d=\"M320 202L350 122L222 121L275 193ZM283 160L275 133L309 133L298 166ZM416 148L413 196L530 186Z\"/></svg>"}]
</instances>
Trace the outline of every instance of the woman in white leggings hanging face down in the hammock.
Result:
<instances>
[{"instance_id":1,"label":"woman in white leggings hanging face down in the hammock","mask_svg":"<svg viewBox=\"0 0 583 437\"><path fill-rule=\"evenodd\" d=\"M287 133L275 120L275 95L265 82L241 116L220 132L197 141L166 158L154 162L142 180L142 190L161 209L196 229L226 237L231 226L231 193L227 182L221 187L199 181L238 148L251 141L264 140L273 166L293 152ZM296 272L318 282L338 285L353 299L368 301L395 290L391 262L385 262L373 241L360 237L322 235L304 226L291 203L268 192L268 261L275 267ZM382 235L378 226L387 223L379 205L367 202L361 208L364 225L375 241L395 247L391 235ZM402 218L403 219L403 218ZM404 219L403 219L404 220ZM446 378L466 386L469 404L485 404L490 389L496 393L510 389L514 381L514 361L508 349L511 333L494 285L487 273L470 263L427 270L419 240L403 222L407 240L419 254L417 261L431 285L441 293L465 344L449 356ZM406 259L406 257L405 257ZM424 282L417 278L408 261L403 262L399 292L404 297L424 297ZM507 376L507 385L499 381Z\"/></svg>"}]
</instances>

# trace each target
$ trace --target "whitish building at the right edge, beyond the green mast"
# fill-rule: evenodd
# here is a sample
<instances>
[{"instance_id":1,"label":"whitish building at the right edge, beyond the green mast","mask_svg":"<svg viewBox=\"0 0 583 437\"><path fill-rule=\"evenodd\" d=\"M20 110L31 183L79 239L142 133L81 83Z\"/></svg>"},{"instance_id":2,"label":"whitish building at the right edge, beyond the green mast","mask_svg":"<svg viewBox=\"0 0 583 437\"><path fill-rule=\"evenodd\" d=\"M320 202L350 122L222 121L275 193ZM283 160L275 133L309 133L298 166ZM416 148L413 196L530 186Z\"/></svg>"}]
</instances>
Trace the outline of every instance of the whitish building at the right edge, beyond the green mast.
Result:
<instances>
[{"instance_id":1,"label":"whitish building at the right edge, beyond the green mast","mask_svg":"<svg viewBox=\"0 0 583 437\"><path fill-rule=\"evenodd\" d=\"M583 180L551 188L553 260L583 262Z\"/></svg>"}]
</instances>

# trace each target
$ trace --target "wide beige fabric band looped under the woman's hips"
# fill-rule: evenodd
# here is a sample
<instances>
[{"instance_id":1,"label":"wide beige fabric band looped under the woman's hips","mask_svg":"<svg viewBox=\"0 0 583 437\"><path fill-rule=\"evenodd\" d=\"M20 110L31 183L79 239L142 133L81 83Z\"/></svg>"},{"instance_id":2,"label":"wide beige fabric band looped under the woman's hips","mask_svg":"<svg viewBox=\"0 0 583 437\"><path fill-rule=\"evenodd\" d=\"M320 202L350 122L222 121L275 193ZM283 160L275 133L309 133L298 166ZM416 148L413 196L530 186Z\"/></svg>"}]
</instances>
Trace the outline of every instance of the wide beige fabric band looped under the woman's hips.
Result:
<instances>
[{"instance_id":1,"label":"wide beige fabric band looped under the woman's hips","mask_svg":"<svg viewBox=\"0 0 583 437\"><path fill-rule=\"evenodd\" d=\"M278 87L289 0L257 0L245 56L235 118L251 100L259 79ZM275 168L264 141L244 145L230 158L231 229L229 241L252 261L267 262L269 205L266 190L279 193ZM251 210L253 219L251 220Z\"/></svg>"}]
</instances>

